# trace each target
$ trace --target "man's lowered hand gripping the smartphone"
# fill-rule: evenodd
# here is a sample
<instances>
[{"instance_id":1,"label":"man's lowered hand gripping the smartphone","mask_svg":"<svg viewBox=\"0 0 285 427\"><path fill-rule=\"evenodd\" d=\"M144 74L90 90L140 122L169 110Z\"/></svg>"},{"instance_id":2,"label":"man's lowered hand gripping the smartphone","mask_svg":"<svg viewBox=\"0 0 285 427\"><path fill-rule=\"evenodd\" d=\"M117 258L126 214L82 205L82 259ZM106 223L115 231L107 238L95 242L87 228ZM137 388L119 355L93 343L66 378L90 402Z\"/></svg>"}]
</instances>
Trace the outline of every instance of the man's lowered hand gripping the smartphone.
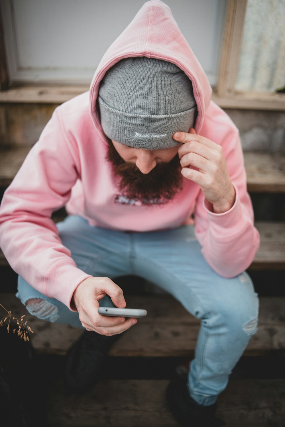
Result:
<instances>
[{"instance_id":1,"label":"man's lowered hand gripping the smartphone","mask_svg":"<svg viewBox=\"0 0 285 427\"><path fill-rule=\"evenodd\" d=\"M137 323L137 319L101 316L98 313L100 299L109 295L116 307L126 307L123 291L108 277L88 277L73 292L73 301L80 322L86 330L112 336L122 333Z\"/></svg>"}]
</instances>

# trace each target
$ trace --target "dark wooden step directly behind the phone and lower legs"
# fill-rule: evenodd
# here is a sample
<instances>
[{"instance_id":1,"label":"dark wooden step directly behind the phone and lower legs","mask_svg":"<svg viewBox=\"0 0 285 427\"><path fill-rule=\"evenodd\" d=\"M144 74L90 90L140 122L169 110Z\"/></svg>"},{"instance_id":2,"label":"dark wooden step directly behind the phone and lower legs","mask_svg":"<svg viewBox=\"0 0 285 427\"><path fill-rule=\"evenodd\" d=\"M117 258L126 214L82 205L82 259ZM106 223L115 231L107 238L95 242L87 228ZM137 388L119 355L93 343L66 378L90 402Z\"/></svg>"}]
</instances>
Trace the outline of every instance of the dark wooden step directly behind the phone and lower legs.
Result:
<instances>
[{"instance_id":1,"label":"dark wooden step directly behind the phone and lower legs","mask_svg":"<svg viewBox=\"0 0 285 427\"><path fill-rule=\"evenodd\" d=\"M144 308L138 319L115 343L112 357L193 357L200 321L170 295L127 296L128 307ZM83 329L45 322L31 316L12 293L0 293L0 303L16 318L25 314L39 354L66 354ZM0 313L6 312L0 307ZM285 355L285 298L260 298L259 330L250 339L247 356ZM1 316L1 317L2 317Z\"/></svg>"}]
</instances>

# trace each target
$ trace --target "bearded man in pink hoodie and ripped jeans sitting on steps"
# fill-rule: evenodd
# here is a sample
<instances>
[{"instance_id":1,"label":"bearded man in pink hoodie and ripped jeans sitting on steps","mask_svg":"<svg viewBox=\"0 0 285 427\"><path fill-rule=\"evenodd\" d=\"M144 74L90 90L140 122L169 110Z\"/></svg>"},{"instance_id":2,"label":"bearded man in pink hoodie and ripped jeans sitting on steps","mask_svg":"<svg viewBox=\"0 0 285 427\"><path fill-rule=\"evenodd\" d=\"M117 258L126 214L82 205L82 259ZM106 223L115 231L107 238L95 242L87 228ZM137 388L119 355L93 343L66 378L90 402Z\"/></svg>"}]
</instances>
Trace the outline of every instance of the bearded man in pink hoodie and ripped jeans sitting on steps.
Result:
<instances>
[{"instance_id":1,"label":"bearded man in pink hoodie and ripped jeans sitting on steps","mask_svg":"<svg viewBox=\"0 0 285 427\"><path fill-rule=\"evenodd\" d=\"M188 380L167 388L182 426L223 425L215 402L258 318L244 272L259 234L241 143L211 94L168 6L145 3L90 92L56 108L0 212L18 298L41 319L88 331L68 355L71 389L95 382L114 339L137 322L98 314L99 303L126 306L112 278L142 276L201 319ZM55 225L62 206L69 215Z\"/></svg>"}]
</instances>

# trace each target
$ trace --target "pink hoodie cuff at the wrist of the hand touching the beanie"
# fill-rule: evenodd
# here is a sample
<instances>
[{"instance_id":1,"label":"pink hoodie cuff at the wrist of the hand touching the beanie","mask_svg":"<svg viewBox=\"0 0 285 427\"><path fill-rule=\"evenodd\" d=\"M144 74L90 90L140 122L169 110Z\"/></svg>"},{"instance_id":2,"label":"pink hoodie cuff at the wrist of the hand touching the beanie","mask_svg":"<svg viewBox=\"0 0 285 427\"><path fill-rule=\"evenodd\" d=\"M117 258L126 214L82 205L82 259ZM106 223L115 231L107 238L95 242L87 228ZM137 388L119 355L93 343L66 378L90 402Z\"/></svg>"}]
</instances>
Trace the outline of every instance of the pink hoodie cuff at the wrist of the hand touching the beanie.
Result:
<instances>
[{"instance_id":1,"label":"pink hoodie cuff at the wrist of the hand touching the beanie","mask_svg":"<svg viewBox=\"0 0 285 427\"><path fill-rule=\"evenodd\" d=\"M207 212L210 226L217 240L224 240L226 237L235 236L235 234L241 231L241 202L238 196L237 187L235 186L235 184L232 185L235 188L235 203L226 212L214 213L212 211L212 203L208 202L205 197L203 198L203 207Z\"/></svg>"}]
</instances>

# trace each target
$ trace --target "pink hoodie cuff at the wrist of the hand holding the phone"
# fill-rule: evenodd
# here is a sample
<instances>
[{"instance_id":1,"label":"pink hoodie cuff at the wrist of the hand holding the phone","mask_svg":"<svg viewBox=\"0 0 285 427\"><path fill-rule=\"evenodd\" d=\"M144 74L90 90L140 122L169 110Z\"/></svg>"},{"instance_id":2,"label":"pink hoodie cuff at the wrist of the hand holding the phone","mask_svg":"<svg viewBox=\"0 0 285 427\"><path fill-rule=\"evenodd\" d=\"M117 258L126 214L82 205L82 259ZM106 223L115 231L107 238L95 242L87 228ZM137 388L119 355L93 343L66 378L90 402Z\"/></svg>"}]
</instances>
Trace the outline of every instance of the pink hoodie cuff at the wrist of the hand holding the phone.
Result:
<instances>
[{"instance_id":1,"label":"pink hoodie cuff at the wrist of the hand holding the phone","mask_svg":"<svg viewBox=\"0 0 285 427\"><path fill-rule=\"evenodd\" d=\"M77 311L74 304L71 303L71 298L77 286L88 277L92 277L92 275L73 265L67 266L64 263L54 266L46 276L46 295L61 301L69 310Z\"/></svg>"}]
</instances>

